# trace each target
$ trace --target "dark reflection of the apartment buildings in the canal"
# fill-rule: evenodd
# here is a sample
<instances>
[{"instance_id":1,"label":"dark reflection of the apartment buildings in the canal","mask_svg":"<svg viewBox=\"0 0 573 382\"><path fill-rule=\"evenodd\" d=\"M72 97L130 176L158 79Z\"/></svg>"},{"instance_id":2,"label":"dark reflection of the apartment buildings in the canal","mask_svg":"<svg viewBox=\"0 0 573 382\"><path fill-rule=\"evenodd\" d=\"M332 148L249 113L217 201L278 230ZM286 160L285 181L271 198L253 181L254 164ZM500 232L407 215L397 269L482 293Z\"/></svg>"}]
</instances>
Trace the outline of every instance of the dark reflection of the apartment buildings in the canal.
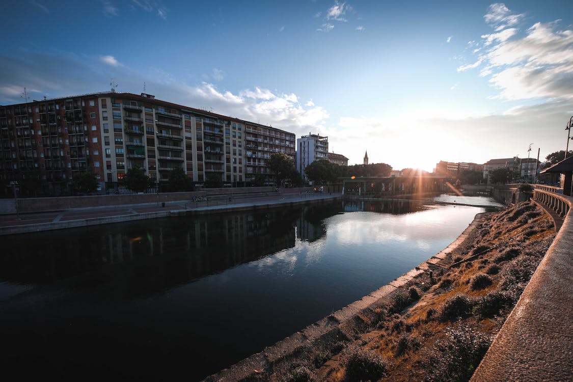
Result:
<instances>
[{"instance_id":1,"label":"dark reflection of the apartment buildings in the canal","mask_svg":"<svg viewBox=\"0 0 573 382\"><path fill-rule=\"evenodd\" d=\"M326 232L322 220L339 210L285 208L14 235L0 255L0 281L150 296L291 248L295 227L299 238L315 241Z\"/></svg>"}]
</instances>

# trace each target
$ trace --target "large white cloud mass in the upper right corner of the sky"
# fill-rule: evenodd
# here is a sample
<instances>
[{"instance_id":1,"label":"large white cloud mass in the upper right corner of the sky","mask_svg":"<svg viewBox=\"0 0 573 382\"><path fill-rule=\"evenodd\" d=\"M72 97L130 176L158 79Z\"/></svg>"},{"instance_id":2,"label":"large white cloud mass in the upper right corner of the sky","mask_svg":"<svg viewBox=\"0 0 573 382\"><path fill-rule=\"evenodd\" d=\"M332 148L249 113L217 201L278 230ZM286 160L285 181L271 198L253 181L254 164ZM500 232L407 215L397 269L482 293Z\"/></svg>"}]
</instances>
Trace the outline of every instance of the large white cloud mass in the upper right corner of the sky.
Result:
<instances>
[{"instance_id":1,"label":"large white cloud mass in the upper right corner of the sky","mask_svg":"<svg viewBox=\"0 0 573 382\"><path fill-rule=\"evenodd\" d=\"M496 33L481 36L477 62L458 72L477 68L480 76L500 90L494 98L573 100L573 27L559 29L559 21L537 22L518 36L514 27L523 14L512 14L503 4L490 6L485 21Z\"/></svg>"}]
</instances>

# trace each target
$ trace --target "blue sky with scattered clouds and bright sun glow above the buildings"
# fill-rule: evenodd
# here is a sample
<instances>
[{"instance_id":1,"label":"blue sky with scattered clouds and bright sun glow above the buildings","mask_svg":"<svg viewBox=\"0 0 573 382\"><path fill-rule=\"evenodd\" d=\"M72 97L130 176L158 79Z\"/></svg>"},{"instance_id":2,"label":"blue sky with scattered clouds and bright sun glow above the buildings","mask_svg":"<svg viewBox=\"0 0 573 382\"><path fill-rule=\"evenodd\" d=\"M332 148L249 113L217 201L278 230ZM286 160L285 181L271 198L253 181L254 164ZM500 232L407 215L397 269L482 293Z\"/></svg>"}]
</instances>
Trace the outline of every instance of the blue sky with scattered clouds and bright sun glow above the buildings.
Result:
<instances>
[{"instance_id":1,"label":"blue sky with scattered clouds and bright sun glow above the buildings","mask_svg":"<svg viewBox=\"0 0 573 382\"><path fill-rule=\"evenodd\" d=\"M113 81L328 136L349 164L543 161L573 116L571 15L571 0L6 2L0 104Z\"/></svg>"}]
</instances>

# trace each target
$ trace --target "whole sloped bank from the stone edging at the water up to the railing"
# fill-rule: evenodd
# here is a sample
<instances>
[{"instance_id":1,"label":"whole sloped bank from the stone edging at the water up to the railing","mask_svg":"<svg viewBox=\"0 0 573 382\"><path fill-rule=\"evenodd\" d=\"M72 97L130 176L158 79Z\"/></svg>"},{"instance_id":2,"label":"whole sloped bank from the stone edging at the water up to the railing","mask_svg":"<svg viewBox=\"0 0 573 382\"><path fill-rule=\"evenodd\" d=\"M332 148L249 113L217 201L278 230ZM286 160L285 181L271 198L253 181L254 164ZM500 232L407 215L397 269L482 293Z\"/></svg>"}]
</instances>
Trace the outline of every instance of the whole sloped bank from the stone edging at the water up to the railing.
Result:
<instances>
[{"instance_id":1,"label":"whole sloped bank from the stone edging at the water up to the railing","mask_svg":"<svg viewBox=\"0 0 573 382\"><path fill-rule=\"evenodd\" d=\"M448 341L472 356L462 372L446 367L450 376L462 373L450 380L468 380L523 290L523 280L516 286L506 274L521 258L519 246L536 243L525 255L532 259L529 271L552 241L549 216L533 205L519 208L478 214L448 248L409 273L205 381L448 380L428 361L448 365L440 357L460 358L444 350ZM484 285L474 289L475 279ZM498 292L502 282L513 289ZM462 308L448 313L456 299Z\"/></svg>"}]
</instances>

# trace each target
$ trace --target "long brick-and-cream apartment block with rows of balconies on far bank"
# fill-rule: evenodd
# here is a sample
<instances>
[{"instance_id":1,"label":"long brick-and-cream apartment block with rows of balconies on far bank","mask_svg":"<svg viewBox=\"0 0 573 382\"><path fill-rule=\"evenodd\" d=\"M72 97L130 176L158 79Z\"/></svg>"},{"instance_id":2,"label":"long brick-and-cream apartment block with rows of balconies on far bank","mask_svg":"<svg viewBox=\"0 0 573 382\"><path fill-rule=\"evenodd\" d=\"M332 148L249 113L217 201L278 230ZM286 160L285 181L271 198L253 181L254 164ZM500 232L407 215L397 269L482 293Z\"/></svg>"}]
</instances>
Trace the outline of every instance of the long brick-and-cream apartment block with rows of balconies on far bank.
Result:
<instances>
[{"instance_id":1,"label":"long brick-and-cream apartment block with rows of balconies on far bank","mask_svg":"<svg viewBox=\"0 0 573 382\"><path fill-rule=\"evenodd\" d=\"M73 175L85 170L102 190L112 188L134 167L156 182L180 168L198 184L217 176L226 186L245 186L256 174L272 178L266 166L272 152L294 160L295 135L146 93L0 106L0 179L41 174L49 194L69 192Z\"/></svg>"}]
</instances>

